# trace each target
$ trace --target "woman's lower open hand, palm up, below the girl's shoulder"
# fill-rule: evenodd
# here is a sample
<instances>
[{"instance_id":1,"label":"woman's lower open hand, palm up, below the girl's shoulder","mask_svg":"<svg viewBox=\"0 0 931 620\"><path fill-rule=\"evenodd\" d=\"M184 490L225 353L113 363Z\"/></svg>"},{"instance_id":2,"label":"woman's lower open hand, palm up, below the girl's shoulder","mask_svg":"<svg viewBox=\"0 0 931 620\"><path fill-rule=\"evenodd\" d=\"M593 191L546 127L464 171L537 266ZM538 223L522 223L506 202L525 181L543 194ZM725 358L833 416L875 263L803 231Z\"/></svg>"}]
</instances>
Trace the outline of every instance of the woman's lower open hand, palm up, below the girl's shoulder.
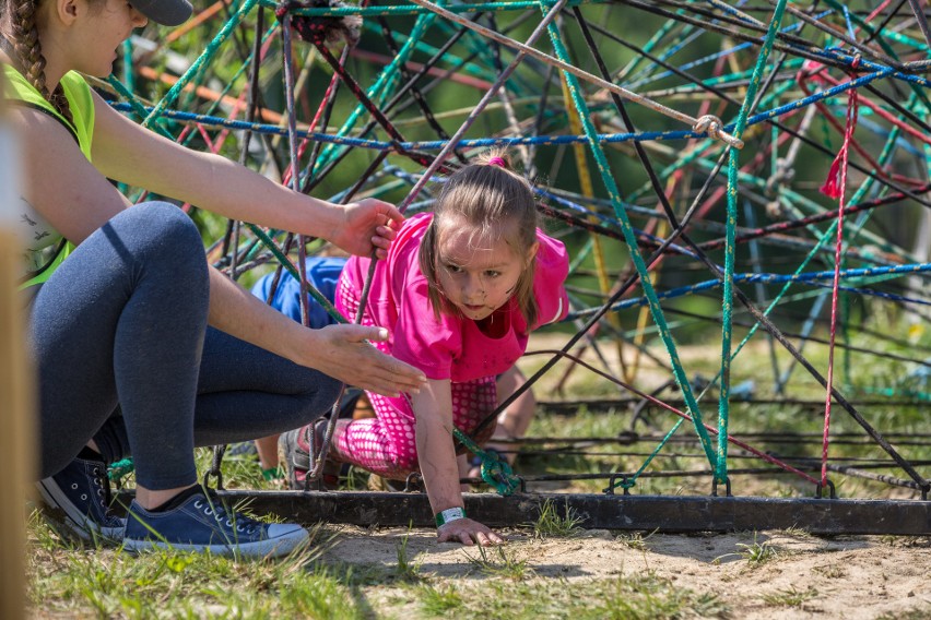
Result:
<instances>
[{"instance_id":1,"label":"woman's lower open hand, palm up, below the girl's shoulder","mask_svg":"<svg viewBox=\"0 0 931 620\"><path fill-rule=\"evenodd\" d=\"M388 331L382 327L342 324L314 332L320 339L310 351L313 368L344 383L398 397L401 392L420 392L426 382L423 372L366 342L388 339Z\"/></svg>"}]
</instances>

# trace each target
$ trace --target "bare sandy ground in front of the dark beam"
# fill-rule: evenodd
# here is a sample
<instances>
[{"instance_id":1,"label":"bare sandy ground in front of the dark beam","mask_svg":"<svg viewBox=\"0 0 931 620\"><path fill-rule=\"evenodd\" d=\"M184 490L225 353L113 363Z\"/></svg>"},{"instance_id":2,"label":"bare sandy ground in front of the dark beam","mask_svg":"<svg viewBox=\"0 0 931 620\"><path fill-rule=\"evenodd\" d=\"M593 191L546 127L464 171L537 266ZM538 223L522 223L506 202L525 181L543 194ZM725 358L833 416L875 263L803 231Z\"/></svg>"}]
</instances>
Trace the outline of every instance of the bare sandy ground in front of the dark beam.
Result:
<instances>
[{"instance_id":1,"label":"bare sandy ground in front of the dark beam","mask_svg":"<svg viewBox=\"0 0 931 620\"><path fill-rule=\"evenodd\" d=\"M437 544L426 530L345 528L328 556L361 567L391 567L405 535L408 557L422 562L422 573L440 581L482 577L461 546ZM676 586L716 594L730 607L732 618L931 618L929 538L818 538L794 532L762 532L755 538L753 533L645 538L632 542L629 533L588 530L538 540L510 533L507 552L527 560L534 573L531 582L571 584L653 571ZM754 544L771 547L775 557L754 565L745 553ZM773 603L774 596L809 591L816 594L800 605Z\"/></svg>"}]
</instances>

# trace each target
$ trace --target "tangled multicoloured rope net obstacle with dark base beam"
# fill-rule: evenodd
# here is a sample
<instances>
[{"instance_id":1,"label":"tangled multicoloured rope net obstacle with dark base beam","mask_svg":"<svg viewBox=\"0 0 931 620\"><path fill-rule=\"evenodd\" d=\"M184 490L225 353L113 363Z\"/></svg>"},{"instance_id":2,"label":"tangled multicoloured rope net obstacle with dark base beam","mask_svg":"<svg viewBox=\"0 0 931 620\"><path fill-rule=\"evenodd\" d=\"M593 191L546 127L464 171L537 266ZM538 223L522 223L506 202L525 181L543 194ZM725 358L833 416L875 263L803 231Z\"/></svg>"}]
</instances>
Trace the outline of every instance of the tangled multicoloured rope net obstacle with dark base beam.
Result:
<instances>
[{"instance_id":1,"label":"tangled multicoloured rope net obstacle with dark base beam","mask_svg":"<svg viewBox=\"0 0 931 620\"><path fill-rule=\"evenodd\" d=\"M561 510L589 526L785 518L928 534L923 11L221 0L134 35L97 87L154 131L295 191L376 196L408 215L473 155L509 151L571 257L571 311L531 339L523 389L553 428L582 410L594 430L516 440L514 473L457 432L491 472L474 482L498 491L467 499L497 515L486 522L526 522L506 496L559 488ZM327 251L182 208L210 260L246 284L272 270L302 277L304 258ZM425 505L420 493L229 492L310 520L368 506L406 524ZM842 502L865 512L841 516ZM877 515L888 518L861 523Z\"/></svg>"}]
</instances>

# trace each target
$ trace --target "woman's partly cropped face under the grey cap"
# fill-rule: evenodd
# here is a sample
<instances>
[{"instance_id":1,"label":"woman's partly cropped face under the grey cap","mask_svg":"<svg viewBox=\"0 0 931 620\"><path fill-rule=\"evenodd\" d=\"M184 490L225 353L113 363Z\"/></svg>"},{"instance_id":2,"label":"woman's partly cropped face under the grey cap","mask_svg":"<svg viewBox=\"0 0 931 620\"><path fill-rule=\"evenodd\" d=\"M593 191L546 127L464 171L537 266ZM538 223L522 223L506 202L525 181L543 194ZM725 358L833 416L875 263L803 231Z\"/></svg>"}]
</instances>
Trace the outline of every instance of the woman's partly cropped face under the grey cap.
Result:
<instances>
[{"instance_id":1,"label":"woman's partly cropped face under the grey cap","mask_svg":"<svg viewBox=\"0 0 931 620\"><path fill-rule=\"evenodd\" d=\"M72 32L71 64L78 71L97 78L113 72L122 41L148 17L127 0L72 0L78 10Z\"/></svg>"}]
</instances>

